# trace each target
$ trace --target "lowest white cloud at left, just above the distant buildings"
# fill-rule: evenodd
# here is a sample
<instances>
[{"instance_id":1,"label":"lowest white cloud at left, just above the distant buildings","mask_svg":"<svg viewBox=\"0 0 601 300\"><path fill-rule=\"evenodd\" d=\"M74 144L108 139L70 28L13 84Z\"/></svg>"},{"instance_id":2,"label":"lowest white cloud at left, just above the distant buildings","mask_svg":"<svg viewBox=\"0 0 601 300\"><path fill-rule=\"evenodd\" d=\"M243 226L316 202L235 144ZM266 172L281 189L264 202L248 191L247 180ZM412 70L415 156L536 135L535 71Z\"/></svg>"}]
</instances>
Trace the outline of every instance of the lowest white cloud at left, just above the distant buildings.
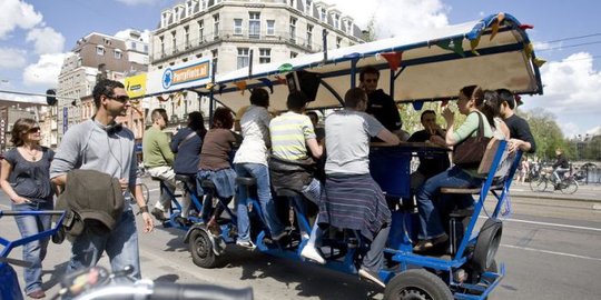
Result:
<instances>
[{"instance_id":1,"label":"lowest white cloud at left, just above the distant buildings","mask_svg":"<svg viewBox=\"0 0 601 300\"><path fill-rule=\"evenodd\" d=\"M65 60L66 53L42 54L40 60L28 66L23 71L23 83L26 86L42 86L52 88L58 86L58 76Z\"/></svg>"}]
</instances>

